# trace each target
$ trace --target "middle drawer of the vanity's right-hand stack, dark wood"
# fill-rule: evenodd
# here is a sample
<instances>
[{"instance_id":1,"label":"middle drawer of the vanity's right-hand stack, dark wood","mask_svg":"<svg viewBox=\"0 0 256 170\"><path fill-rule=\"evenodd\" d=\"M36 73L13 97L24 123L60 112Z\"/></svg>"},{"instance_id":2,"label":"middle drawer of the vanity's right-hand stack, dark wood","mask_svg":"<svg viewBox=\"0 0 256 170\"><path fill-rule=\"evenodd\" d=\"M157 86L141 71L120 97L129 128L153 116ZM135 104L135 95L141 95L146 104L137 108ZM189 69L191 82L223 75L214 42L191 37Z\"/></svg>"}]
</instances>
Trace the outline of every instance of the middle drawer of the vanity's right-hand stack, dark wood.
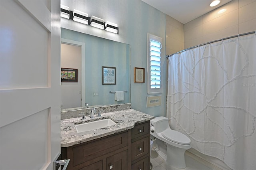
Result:
<instances>
[{"instance_id":1,"label":"middle drawer of the vanity's right-hand stack, dark wood","mask_svg":"<svg viewBox=\"0 0 256 170\"><path fill-rule=\"evenodd\" d=\"M140 158L141 156L148 154L148 141L149 141L149 138L146 137L146 138L137 140L136 142L132 142L132 145L131 145L132 161Z\"/></svg>"}]
</instances>

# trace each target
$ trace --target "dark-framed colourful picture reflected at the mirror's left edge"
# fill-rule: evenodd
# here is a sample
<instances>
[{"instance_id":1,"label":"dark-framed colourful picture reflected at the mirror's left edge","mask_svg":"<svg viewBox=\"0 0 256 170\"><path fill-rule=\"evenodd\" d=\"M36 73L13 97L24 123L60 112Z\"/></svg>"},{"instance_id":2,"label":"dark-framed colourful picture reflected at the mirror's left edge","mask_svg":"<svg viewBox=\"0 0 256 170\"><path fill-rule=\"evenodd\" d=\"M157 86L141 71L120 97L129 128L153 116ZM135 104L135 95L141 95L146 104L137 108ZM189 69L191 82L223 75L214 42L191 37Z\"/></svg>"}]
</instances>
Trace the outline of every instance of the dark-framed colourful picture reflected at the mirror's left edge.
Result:
<instances>
[{"instance_id":1,"label":"dark-framed colourful picture reflected at the mirror's left edge","mask_svg":"<svg viewBox=\"0 0 256 170\"><path fill-rule=\"evenodd\" d=\"M78 69L61 68L61 82L77 82Z\"/></svg>"}]
</instances>

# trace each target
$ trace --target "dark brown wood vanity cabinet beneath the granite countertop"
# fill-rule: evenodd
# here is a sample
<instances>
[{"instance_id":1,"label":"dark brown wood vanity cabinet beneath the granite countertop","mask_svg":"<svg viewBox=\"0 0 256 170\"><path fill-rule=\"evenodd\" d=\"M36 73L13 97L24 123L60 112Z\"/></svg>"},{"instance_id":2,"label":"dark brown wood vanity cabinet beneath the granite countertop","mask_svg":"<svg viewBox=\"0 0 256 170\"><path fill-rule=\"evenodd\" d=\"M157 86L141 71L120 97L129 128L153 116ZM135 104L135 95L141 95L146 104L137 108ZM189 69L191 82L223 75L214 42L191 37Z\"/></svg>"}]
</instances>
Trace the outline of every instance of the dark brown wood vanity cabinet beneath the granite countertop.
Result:
<instances>
[{"instance_id":1,"label":"dark brown wood vanity cabinet beneath the granite countertop","mask_svg":"<svg viewBox=\"0 0 256 170\"><path fill-rule=\"evenodd\" d=\"M68 170L148 170L149 121L130 130L61 148Z\"/></svg>"}]
</instances>

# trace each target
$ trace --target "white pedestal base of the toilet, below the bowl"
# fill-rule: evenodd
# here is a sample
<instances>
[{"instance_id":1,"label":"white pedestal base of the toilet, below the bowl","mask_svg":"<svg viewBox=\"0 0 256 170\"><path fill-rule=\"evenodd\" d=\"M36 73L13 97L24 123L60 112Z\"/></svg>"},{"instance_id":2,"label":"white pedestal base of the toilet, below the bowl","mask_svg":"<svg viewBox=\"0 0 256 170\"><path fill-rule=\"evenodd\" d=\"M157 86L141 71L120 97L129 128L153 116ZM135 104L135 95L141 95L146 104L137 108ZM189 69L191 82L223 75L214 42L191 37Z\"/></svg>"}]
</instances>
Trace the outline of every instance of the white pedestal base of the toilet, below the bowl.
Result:
<instances>
[{"instance_id":1,"label":"white pedestal base of the toilet, below the bowl","mask_svg":"<svg viewBox=\"0 0 256 170\"><path fill-rule=\"evenodd\" d=\"M175 146L167 144L167 159L166 163L169 166L175 168L184 169L186 168L185 163L185 151L187 149L177 148Z\"/></svg>"}]
</instances>

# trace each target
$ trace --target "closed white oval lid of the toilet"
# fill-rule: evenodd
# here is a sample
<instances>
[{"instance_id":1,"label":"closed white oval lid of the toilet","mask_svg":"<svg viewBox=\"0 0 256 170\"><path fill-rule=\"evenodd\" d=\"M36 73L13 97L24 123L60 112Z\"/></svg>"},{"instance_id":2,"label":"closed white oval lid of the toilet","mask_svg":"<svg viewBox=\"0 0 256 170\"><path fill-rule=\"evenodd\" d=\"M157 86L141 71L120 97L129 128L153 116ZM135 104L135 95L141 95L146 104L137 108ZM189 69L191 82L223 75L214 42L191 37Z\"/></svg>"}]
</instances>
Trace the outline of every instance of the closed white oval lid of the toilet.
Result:
<instances>
[{"instance_id":1,"label":"closed white oval lid of the toilet","mask_svg":"<svg viewBox=\"0 0 256 170\"><path fill-rule=\"evenodd\" d=\"M176 130L172 130L172 129L164 130L162 132L162 135L164 136L164 138L178 144L191 144L191 140L190 138L188 138L188 136Z\"/></svg>"}]
</instances>

